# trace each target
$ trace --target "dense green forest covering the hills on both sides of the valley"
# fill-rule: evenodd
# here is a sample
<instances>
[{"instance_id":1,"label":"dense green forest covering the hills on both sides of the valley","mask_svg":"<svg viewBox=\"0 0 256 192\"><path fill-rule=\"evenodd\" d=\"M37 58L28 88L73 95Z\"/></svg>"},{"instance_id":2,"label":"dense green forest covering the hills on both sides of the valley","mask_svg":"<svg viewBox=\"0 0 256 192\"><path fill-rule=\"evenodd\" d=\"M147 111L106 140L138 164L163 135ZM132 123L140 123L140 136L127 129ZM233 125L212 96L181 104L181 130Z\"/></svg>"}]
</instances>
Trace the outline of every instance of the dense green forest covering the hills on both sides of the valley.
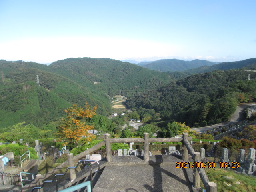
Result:
<instances>
[{"instance_id":1,"label":"dense green forest covering the hills on both sides of the valley","mask_svg":"<svg viewBox=\"0 0 256 192\"><path fill-rule=\"evenodd\" d=\"M254 60L238 62L234 68L250 69ZM255 73L251 72L248 81L244 70L189 76L109 58L69 58L48 66L0 60L0 74L0 128L25 122L52 129L52 122L65 116L65 108L86 102L97 105L97 114L106 117L114 112L110 102L116 94L128 96L128 108L137 110L145 122L150 122L150 117L151 121L176 120L204 126L227 120L237 103L255 98Z\"/></svg>"}]
</instances>

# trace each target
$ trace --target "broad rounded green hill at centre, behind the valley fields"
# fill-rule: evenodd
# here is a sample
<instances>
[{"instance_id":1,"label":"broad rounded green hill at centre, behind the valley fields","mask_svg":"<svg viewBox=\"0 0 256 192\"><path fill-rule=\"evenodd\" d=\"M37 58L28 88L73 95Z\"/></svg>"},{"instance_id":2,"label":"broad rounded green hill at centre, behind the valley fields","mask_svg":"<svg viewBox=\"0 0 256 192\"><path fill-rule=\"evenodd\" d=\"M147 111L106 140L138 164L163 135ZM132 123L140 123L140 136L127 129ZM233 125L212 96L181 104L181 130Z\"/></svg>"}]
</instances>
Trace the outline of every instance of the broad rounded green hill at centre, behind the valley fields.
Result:
<instances>
[{"instance_id":1,"label":"broad rounded green hill at centre, behind the valley fields","mask_svg":"<svg viewBox=\"0 0 256 192\"><path fill-rule=\"evenodd\" d=\"M109 58L69 58L50 64L52 72L66 76L81 86L129 95L156 88L175 80L174 76Z\"/></svg>"}]
</instances>

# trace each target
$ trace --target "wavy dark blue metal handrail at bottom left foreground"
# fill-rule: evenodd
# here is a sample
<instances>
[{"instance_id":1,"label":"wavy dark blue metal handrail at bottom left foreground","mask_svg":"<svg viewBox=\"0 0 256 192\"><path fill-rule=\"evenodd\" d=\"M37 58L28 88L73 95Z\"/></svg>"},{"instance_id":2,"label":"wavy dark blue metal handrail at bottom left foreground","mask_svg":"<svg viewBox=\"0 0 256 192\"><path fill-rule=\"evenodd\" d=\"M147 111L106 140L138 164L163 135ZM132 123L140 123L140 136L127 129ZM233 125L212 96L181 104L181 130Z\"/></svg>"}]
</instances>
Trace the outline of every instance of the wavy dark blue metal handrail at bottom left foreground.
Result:
<instances>
[{"instance_id":1,"label":"wavy dark blue metal handrail at bottom left foreground","mask_svg":"<svg viewBox=\"0 0 256 192\"><path fill-rule=\"evenodd\" d=\"M66 172L67 172L69 169L76 169L76 168L78 168L78 165L79 165L81 162L90 162L90 165L91 165L91 162L95 162L95 163L98 164L98 170L94 171L94 173L96 173L96 172L98 172L98 171L100 170L100 164L99 164L98 161L82 159L82 160L79 160L79 161L78 161L78 164L77 164L75 167L68 167L64 173L58 173L58 174L56 174L52 180L46 180L46 181L44 181L41 187L34 187L31 192L33 192L34 189L42 189L42 188L44 187L44 184L46 184L46 183L52 183L52 182L55 180L55 178L56 178L57 176L64 176L64 175L66 174ZM91 174L91 180L92 180L92 166L90 166L90 174ZM92 190L92 182L91 182L91 190ZM57 183L57 180L56 180L56 191L58 191L58 183Z\"/></svg>"}]
</instances>

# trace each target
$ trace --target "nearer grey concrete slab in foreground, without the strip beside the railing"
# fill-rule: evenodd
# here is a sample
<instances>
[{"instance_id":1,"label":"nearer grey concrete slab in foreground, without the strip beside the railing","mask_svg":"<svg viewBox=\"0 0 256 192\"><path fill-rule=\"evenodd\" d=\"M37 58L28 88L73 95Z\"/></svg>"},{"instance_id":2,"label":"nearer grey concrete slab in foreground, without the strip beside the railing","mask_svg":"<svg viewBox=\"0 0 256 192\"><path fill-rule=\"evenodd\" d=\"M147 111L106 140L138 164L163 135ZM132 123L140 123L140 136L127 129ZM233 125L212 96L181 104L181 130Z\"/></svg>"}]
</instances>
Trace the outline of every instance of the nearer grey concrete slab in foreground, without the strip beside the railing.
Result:
<instances>
[{"instance_id":1,"label":"nearer grey concrete slab in foreground, without the strip beside the railing","mask_svg":"<svg viewBox=\"0 0 256 192\"><path fill-rule=\"evenodd\" d=\"M94 192L189 192L192 184L182 168L175 165L106 166Z\"/></svg>"}]
</instances>

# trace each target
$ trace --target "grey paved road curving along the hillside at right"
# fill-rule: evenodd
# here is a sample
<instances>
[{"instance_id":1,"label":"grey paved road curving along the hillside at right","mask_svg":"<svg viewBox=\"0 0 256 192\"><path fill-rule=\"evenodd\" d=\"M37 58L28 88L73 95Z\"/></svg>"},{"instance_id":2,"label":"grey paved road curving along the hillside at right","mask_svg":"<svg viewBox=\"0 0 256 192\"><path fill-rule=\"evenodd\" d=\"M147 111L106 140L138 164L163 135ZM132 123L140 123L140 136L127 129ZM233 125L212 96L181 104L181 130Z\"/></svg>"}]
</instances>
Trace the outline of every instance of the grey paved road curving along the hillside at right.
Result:
<instances>
[{"instance_id":1,"label":"grey paved road curving along the hillside at right","mask_svg":"<svg viewBox=\"0 0 256 192\"><path fill-rule=\"evenodd\" d=\"M256 104L255 103L248 103L248 104L242 104L242 105L237 106L236 111L234 112L234 114L230 118L230 122L219 123L219 124L206 126L206 127L192 128L191 130L198 131L198 132L203 132L205 130L212 130L214 127L225 126L225 125L228 125L230 123L242 121L242 120L245 119L244 110L246 108L250 107L250 106L253 106L253 105L256 105Z\"/></svg>"}]
</instances>

